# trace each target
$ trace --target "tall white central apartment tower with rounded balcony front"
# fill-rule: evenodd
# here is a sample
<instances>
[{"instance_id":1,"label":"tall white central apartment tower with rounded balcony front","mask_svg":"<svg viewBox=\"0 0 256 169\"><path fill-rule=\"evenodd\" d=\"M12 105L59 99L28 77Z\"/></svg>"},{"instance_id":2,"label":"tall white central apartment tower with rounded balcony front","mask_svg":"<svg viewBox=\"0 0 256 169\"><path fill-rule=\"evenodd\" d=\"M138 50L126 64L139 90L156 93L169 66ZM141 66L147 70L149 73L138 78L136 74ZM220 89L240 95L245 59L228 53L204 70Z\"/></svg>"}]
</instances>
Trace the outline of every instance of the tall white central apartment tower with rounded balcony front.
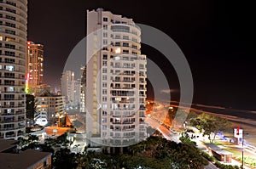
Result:
<instances>
[{"instance_id":1,"label":"tall white central apartment tower with rounded balcony front","mask_svg":"<svg viewBox=\"0 0 256 169\"><path fill-rule=\"evenodd\" d=\"M90 146L125 147L147 137L146 56L133 20L87 11L86 133ZM118 148L119 149L119 148Z\"/></svg>"}]
</instances>

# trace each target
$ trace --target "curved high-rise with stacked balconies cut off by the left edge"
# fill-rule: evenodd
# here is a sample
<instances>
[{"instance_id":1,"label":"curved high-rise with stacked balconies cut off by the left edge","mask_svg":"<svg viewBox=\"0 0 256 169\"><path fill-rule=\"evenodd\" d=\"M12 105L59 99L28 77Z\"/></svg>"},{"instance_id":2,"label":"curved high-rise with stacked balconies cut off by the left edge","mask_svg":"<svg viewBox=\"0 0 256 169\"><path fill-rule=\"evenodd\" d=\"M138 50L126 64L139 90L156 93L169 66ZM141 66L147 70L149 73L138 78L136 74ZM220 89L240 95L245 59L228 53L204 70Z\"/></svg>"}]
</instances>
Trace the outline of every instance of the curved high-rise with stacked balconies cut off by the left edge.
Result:
<instances>
[{"instance_id":1,"label":"curved high-rise with stacked balconies cut off by the left edge","mask_svg":"<svg viewBox=\"0 0 256 169\"><path fill-rule=\"evenodd\" d=\"M0 0L0 138L19 138L26 125L27 0Z\"/></svg>"}]
</instances>

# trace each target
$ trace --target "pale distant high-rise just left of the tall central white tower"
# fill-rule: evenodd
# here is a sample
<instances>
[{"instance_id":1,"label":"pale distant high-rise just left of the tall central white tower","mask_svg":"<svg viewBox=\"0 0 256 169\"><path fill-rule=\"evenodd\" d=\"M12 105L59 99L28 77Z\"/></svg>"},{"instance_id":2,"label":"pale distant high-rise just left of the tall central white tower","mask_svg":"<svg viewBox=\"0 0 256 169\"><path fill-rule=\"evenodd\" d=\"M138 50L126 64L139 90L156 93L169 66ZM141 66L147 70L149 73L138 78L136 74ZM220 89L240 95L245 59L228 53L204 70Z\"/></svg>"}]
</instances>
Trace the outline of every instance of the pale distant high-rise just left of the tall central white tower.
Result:
<instances>
[{"instance_id":1,"label":"pale distant high-rise just left of the tall central white tower","mask_svg":"<svg viewBox=\"0 0 256 169\"><path fill-rule=\"evenodd\" d=\"M61 76L61 95L66 97L67 107L79 108L80 82L75 80L74 72L67 70Z\"/></svg>"}]
</instances>

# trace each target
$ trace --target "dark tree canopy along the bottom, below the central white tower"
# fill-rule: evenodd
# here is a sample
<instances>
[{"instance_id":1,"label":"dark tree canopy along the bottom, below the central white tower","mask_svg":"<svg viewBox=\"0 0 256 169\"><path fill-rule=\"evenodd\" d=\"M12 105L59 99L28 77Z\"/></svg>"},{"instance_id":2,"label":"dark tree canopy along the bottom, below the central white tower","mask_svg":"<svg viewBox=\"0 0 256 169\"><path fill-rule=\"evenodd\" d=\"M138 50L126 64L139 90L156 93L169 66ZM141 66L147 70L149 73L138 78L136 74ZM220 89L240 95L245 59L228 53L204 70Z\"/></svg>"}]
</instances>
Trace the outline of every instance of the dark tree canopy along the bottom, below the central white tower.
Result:
<instances>
[{"instance_id":1,"label":"dark tree canopy along the bottom, below the central white tower","mask_svg":"<svg viewBox=\"0 0 256 169\"><path fill-rule=\"evenodd\" d=\"M32 136L26 138L31 143L26 149L40 148L53 153L52 168L90 169L90 168L178 168L200 169L207 161L194 146L176 144L160 137L149 137L145 141L128 147L122 155L96 154L84 151L84 154L74 154L67 149L67 134L58 138L47 138L44 144L35 144L38 139ZM66 145L64 149L58 144Z\"/></svg>"}]
</instances>

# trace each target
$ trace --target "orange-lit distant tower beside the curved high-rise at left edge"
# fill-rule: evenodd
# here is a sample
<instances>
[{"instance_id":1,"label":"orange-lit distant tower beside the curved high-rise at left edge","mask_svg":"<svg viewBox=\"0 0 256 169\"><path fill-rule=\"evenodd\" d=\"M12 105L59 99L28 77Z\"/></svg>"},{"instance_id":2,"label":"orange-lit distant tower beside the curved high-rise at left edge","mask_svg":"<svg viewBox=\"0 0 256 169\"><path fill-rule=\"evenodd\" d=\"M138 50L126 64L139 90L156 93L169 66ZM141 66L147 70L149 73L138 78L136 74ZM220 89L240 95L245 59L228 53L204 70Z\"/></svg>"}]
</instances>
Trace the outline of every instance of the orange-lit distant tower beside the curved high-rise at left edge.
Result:
<instances>
[{"instance_id":1,"label":"orange-lit distant tower beside the curved high-rise at left edge","mask_svg":"<svg viewBox=\"0 0 256 169\"><path fill-rule=\"evenodd\" d=\"M27 42L26 73L29 73L29 87L36 88L43 84L44 46L42 44Z\"/></svg>"}]
</instances>

